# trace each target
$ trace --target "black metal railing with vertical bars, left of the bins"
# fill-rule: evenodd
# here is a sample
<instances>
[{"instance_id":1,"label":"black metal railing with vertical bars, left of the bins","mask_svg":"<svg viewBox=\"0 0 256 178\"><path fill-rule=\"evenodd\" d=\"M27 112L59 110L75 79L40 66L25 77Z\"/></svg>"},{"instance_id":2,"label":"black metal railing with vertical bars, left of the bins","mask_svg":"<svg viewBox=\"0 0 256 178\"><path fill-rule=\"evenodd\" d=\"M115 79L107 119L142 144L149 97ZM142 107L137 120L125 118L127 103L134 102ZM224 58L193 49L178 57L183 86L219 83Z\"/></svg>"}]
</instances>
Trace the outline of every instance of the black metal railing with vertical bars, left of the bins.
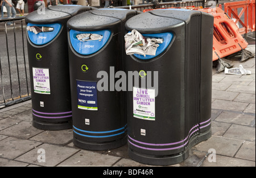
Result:
<instances>
[{"instance_id":1,"label":"black metal railing with vertical bars, left of the bins","mask_svg":"<svg viewBox=\"0 0 256 178\"><path fill-rule=\"evenodd\" d=\"M0 108L31 99L24 18L0 19Z\"/></svg>"}]
</instances>

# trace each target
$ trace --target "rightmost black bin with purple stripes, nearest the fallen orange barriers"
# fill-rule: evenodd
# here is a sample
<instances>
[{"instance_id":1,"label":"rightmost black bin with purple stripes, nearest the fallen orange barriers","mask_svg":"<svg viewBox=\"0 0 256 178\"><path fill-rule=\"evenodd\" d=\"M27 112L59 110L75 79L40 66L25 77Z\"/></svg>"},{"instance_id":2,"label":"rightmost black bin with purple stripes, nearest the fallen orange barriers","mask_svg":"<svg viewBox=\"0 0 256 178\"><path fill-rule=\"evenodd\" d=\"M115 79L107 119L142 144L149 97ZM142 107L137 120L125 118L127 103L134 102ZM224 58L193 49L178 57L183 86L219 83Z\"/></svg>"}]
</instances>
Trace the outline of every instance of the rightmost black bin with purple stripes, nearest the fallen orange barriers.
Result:
<instances>
[{"instance_id":1,"label":"rightmost black bin with purple stripes, nearest the fallen orange barriers","mask_svg":"<svg viewBox=\"0 0 256 178\"><path fill-rule=\"evenodd\" d=\"M125 57L125 71L139 72L139 84L127 92L129 156L152 165L182 162L192 146L211 136L213 16L152 10L125 27L163 39L155 55ZM142 88L143 80L150 85Z\"/></svg>"}]
</instances>

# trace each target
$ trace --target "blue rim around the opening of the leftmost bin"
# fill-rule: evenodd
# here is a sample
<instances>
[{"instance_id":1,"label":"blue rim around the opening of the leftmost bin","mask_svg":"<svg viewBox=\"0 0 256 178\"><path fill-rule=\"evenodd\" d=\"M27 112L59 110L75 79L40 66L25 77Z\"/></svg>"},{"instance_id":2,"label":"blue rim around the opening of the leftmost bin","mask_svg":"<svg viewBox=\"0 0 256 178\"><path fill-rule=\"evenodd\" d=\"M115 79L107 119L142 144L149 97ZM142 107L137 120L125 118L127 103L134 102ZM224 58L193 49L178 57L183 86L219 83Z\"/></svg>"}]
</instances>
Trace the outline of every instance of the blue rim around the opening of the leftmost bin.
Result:
<instances>
[{"instance_id":1,"label":"blue rim around the opening of the leftmost bin","mask_svg":"<svg viewBox=\"0 0 256 178\"><path fill-rule=\"evenodd\" d=\"M54 28L53 31L49 32L40 32L38 34L34 34L32 31L27 31L28 38L30 38L30 41L36 45L43 45L51 42L57 34L59 34L61 30L61 24L60 23L52 23L52 24L32 24L28 23L27 26L38 26L38 27L52 27Z\"/></svg>"}]
</instances>

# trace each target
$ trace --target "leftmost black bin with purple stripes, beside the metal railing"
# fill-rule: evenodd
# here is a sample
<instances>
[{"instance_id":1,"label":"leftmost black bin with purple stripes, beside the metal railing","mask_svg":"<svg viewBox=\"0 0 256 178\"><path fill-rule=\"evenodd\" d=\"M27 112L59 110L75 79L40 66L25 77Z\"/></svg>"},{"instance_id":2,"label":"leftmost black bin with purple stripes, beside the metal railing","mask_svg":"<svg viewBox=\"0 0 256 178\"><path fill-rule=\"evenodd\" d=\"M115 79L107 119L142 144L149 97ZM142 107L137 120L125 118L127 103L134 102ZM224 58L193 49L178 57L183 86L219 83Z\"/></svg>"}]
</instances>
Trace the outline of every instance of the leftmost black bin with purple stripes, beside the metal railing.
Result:
<instances>
[{"instance_id":1,"label":"leftmost black bin with purple stripes, beside the metal railing","mask_svg":"<svg viewBox=\"0 0 256 178\"><path fill-rule=\"evenodd\" d=\"M32 125L38 129L72 128L67 20L91 9L84 6L51 6L26 16L27 28L31 30L27 31L27 48Z\"/></svg>"}]
</instances>

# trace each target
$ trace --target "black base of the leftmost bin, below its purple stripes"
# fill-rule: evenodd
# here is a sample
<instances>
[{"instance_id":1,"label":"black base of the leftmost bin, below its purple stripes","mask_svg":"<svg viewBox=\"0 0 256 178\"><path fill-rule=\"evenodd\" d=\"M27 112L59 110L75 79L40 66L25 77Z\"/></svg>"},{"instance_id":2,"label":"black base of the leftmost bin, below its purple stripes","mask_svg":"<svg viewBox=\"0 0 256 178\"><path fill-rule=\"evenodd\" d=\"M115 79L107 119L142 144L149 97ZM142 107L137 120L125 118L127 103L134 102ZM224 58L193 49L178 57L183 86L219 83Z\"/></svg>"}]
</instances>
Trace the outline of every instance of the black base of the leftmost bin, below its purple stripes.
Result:
<instances>
[{"instance_id":1,"label":"black base of the leftmost bin, below its purple stripes","mask_svg":"<svg viewBox=\"0 0 256 178\"><path fill-rule=\"evenodd\" d=\"M40 130L66 130L72 129L72 121L66 122L41 122L33 119L32 126Z\"/></svg>"}]
</instances>

